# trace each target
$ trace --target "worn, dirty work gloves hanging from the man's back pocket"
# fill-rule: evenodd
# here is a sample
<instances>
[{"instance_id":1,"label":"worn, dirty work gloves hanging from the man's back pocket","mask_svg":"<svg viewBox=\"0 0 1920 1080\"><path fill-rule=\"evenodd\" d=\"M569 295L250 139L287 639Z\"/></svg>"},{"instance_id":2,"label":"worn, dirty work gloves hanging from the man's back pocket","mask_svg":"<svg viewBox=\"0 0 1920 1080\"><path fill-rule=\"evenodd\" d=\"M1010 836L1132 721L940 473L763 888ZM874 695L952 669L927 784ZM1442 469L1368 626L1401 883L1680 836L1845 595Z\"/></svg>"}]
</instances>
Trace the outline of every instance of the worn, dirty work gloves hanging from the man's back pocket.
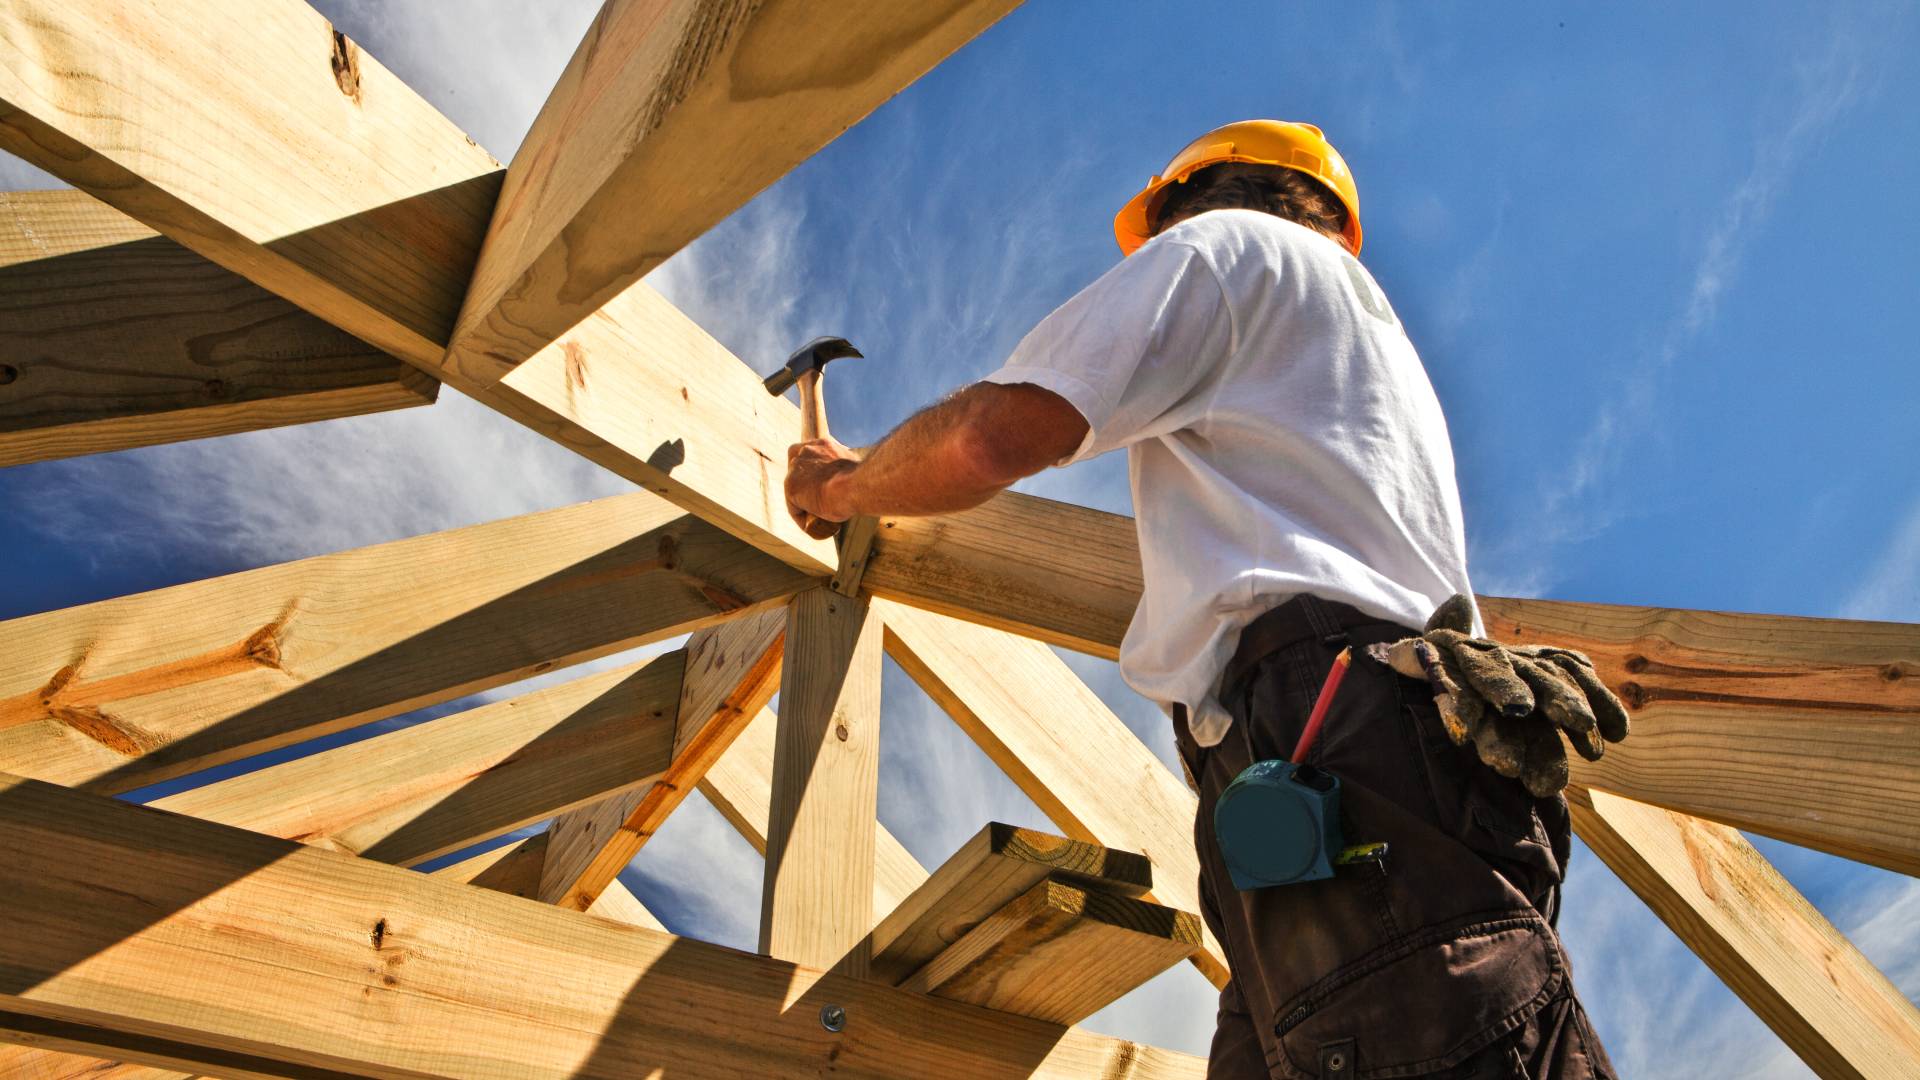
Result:
<instances>
[{"instance_id":1,"label":"worn, dirty work gloves hanging from the man's back pocket","mask_svg":"<svg viewBox=\"0 0 1920 1080\"><path fill-rule=\"evenodd\" d=\"M1503 646L1473 636L1473 600L1434 609L1417 638L1369 646L1367 655L1407 678L1425 678L1455 746L1519 778L1536 798L1567 788L1561 734L1588 761L1626 738L1626 707L1586 653L1555 646Z\"/></svg>"}]
</instances>

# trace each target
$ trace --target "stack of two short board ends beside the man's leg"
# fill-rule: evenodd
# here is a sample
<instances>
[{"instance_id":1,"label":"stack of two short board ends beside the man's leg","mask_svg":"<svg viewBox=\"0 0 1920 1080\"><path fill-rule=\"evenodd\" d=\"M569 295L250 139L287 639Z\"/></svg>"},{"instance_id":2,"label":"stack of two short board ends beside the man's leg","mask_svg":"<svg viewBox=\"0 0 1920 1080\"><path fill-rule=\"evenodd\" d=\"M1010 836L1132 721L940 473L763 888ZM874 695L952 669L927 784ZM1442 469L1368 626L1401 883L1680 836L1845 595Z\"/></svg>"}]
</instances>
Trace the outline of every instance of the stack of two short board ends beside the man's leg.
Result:
<instances>
[{"instance_id":1,"label":"stack of two short board ends beside the man's leg","mask_svg":"<svg viewBox=\"0 0 1920 1080\"><path fill-rule=\"evenodd\" d=\"M1200 949L1152 886L1144 855L991 822L874 928L870 974L1077 1024Z\"/></svg>"}]
</instances>

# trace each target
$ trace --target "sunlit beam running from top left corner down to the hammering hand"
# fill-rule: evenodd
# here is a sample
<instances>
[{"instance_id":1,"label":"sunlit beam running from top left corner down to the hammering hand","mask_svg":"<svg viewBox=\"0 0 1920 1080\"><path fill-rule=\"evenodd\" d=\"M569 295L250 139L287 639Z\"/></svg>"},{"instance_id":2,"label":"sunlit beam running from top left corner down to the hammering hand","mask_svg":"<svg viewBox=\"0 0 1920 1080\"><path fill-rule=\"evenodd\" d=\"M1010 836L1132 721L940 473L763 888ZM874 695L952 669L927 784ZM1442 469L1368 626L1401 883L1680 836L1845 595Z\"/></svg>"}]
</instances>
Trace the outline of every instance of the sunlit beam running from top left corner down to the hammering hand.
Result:
<instances>
[{"instance_id":1,"label":"sunlit beam running from top left corner down to the hammering hand","mask_svg":"<svg viewBox=\"0 0 1920 1080\"><path fill-rule=\"evenodd\" d=\"M783 25L780 12L760 21ZM0 148L749 544L831 573L833 546L801 532L780 494L797 409L651 288L612 298L503 382L444 363L503 169L305 4L0 0ZM708 152L703 136L712 165ZM705 190L685 177L676 192Z\"/></svg>"}]
</instances>

